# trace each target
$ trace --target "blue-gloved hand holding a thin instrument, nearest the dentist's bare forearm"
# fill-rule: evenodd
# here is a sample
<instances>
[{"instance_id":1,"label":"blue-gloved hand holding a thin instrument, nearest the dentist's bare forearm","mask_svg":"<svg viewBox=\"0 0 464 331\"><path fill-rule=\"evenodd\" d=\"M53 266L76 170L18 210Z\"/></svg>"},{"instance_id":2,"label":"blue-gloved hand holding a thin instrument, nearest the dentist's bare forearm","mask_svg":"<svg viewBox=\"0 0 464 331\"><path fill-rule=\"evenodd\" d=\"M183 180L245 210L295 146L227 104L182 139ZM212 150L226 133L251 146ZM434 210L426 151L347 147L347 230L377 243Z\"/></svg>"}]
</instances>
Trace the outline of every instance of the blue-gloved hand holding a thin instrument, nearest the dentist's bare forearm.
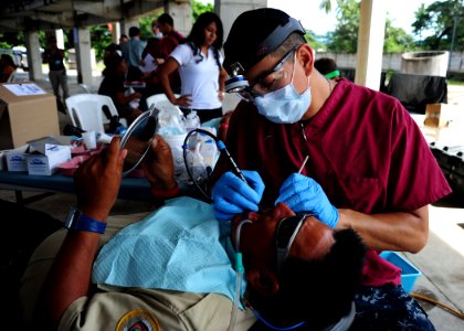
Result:
<instances>
[{"instance_id":1,"label":"blue-gloved hand holding a thin instrument, nearest the dentist's bare forearm","mask_svg":"<svg viewBox=\"0 0 464 331\"><path fill-rule=\"evenodd\" d=\"M308 212L324 224L335 228L338 210L330 204L323 188L312 178L291 174L282 184L275 203L284 202L295 213Z\"/></svg>"}]
</instances>

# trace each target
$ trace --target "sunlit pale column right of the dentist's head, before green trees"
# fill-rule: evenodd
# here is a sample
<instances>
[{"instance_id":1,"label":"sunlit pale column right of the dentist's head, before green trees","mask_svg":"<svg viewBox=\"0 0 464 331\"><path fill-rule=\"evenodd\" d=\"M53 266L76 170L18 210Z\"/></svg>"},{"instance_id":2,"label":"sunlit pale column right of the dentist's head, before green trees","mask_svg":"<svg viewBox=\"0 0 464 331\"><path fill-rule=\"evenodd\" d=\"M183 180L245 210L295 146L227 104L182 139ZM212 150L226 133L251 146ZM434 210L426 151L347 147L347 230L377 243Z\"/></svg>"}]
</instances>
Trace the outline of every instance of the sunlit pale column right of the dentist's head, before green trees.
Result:
<instances>
[{"instance_id":1,"label":"sunlit pale column right of the dentist's head, before green trees","mask_svg":"<svg viewBox=\"0 0 464 331\"><path fill-rule=\"evenodd\" d=\"M355 83L378 90L382 71L386 2L362 0Z\"/></svg>"}]
</instances>

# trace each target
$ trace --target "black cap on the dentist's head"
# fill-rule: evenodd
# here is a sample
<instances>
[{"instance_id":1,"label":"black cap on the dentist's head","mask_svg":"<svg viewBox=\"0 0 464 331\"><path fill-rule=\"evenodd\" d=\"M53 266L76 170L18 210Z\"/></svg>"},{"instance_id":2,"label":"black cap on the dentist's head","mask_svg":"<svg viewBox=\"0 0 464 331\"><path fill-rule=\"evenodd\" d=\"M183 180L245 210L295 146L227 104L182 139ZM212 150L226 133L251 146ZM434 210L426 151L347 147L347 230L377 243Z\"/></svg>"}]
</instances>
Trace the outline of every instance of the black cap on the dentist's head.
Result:
<instances>
[{"instance_id":1,"label":"black cap on the dentist's head","mask_svg":"<svg viewBox=\"0 0 464 331\"><path fill-rule=\"evenodd\" d=\"M224 43L224 68L231 72L230 66L239 62L246 72L274 52L293 32L306 33L299 21L282 10L260 8L241 13Z\"/></svg>"}]
</instances>

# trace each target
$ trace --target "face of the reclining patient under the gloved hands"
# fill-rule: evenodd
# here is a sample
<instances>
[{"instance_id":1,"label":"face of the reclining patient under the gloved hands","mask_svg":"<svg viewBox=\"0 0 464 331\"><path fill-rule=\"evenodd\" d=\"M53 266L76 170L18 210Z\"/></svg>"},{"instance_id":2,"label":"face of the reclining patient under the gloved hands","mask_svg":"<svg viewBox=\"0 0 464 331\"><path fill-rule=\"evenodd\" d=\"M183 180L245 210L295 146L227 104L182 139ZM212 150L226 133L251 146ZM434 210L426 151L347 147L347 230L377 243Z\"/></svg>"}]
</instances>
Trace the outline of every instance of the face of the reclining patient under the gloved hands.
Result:
<instances>
[{"instance_id":1,"label":"face of the reclining patient under the gloved hands","mask_svg":"<svg viewBox=\"0 0 464 331\"><path fill-rule=\"evenodd\" d=\"M241 229L240 249L246 268L260 268L266 266L276 269L276 228L278 223L295 215L285 203L277 204L274 209L259 213L249 213L245 217L240 216L232 222L232 238L235 243L235 229L241 221L246 217L252 224L244 224ZM299 229L289 252L288 257L297 257L304 260L321 259L334 244L334 231L309 216Z\"/></svg>"}]
</instances>

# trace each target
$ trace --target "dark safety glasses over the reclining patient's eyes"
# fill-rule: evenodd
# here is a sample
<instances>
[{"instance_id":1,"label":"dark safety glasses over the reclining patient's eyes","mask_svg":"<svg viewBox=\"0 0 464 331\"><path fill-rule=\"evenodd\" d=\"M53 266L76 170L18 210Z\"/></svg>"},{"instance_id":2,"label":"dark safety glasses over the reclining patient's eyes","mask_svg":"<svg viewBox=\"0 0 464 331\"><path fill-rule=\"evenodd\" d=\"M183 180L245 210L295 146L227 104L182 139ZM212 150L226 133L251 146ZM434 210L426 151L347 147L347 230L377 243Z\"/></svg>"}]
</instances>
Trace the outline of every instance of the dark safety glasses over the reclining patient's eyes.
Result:
<instances>
[{"instance_id":1,"label":"dark safety glasses over the reclining patient's eyes","mask_svg":"<svg viewBox=\"0 0 464 331\"><path fill-rule=\"evenodd\" d=\"M278 223L275 235L278 274L282 271L282 267L288 256L293 242L308 216L308 214L297 214L295 216L283 218Z\"/></svg>"}]
</instances>

